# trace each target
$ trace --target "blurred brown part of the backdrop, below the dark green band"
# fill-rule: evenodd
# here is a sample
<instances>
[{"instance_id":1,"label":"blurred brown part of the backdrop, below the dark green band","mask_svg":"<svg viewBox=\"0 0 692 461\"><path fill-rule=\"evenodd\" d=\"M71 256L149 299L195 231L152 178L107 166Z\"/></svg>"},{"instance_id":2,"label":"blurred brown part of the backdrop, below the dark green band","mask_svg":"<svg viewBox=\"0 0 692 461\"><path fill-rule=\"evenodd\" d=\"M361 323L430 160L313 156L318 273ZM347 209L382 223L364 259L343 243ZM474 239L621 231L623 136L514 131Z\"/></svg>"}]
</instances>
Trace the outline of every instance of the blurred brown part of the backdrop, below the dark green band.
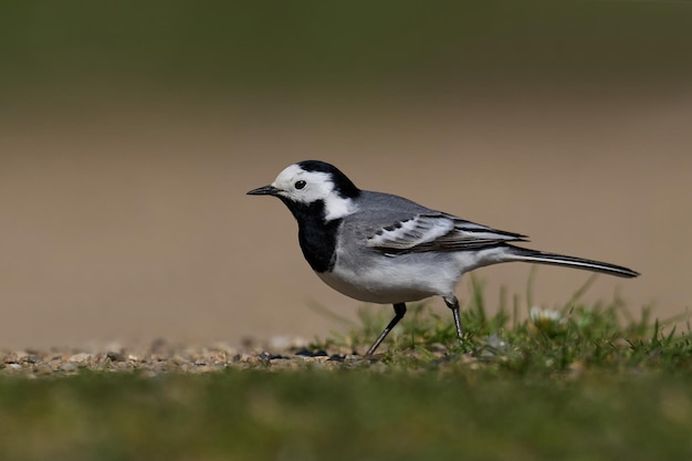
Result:
<instances>
[{"instance_id":1,"label":"blurred brown part of the backdrop, below the dark green band","mask_svg":"<svg viewBox=\"0 0 692 461\"><path fill-rule=\"evenodd\" d=\"M692 297L690 97L147 107L3 121L2 346L347 329L310 303L348 318L360 304L311 273L282 203L245 196L307 158L642 273L600 276L587 300L619 291L669 317ZM523 294L530 266L478 273L496 300ZM541 268L535 301L559 306L586 277Z\"/></svg>"}]
</instances>

